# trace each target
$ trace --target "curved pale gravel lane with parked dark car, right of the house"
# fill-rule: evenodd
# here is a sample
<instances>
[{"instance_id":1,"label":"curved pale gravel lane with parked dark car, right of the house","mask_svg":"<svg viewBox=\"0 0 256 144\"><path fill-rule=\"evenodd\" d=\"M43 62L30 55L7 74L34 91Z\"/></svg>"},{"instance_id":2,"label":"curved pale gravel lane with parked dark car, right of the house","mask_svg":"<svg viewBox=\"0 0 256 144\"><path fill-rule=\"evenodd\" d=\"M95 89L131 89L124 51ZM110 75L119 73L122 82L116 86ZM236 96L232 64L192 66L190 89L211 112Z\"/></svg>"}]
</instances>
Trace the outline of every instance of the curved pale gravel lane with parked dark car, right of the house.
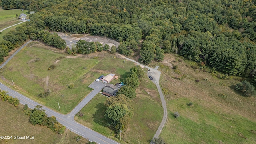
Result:
<instances>
[{"instance_id":1,"label":"curved pale gravel lane with parked dark car, right of the house","mask_svg":"<svg viewBox=\"0 0 256 144\"><path fill-rule=\"evenodd\" d=\"M162 107L163 107L163 110L164 110L164 116L163 116L163 119L162 119L162 122L161 124L159 125L157 131L156 131L156 134L154 135L154 138L158 138L160 133L162 132L162 129L164 128L164 125L166 124L166 121L167 121L167 106L166 106L166 101L164 99L164 94L162 93L162 89L159 85L159 79L160 79L160 75L161 75L161 72L159 70L156 70L158 67L156 66L156 68L150 68L148 66L145 66L143 64L140 64L139 62L136 62L135 60L132 60L130 58L126 58L125 56L121 55L121 54L118 54L121 58L125 58L126 60L130 60L136 64L139 64L141 66L144 66L145 68L148 68L150 69L150 71L148 71L148 76L152 76L153 77L153 80L152 82L154 82L154 84L156 84L156 87L157 87L157 90L159 92L159 95L160 95L160 99L161 99L161 102L162 102Z\"/></svg>"}]
</instances>

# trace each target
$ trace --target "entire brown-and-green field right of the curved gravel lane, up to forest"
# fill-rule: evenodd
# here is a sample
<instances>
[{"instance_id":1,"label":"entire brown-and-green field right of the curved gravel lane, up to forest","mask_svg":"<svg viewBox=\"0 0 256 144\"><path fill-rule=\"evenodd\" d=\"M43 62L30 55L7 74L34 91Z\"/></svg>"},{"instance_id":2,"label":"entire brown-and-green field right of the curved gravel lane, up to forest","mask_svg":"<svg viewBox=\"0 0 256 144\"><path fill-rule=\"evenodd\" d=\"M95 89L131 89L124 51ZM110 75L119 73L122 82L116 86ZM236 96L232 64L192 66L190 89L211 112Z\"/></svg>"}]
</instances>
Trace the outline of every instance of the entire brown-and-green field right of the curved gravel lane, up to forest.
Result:
<instances>
[{"instance_id":1,"label":"entire brown-and-green field right of the curved gravel lane, up to forest","mask_svg":"<svg viewBox=\"0 0 256 144\"><path fill-rule=\"evenodd\" d=\"M209 68L206 72L193 69L195 62L174 54L166 54L164 59L152 66L160 66L162 72L160 85L169 118L160 136L167 143L256 143L256 98L243 97L234 90L241 78L218 79L210 75ZM176 72L172 69L175 65ZM182 80L175 79L182 76ZM189 102L194 106L187 106ZM176 111L178 119L173 116Z\"/></svg>"}]
</instances>

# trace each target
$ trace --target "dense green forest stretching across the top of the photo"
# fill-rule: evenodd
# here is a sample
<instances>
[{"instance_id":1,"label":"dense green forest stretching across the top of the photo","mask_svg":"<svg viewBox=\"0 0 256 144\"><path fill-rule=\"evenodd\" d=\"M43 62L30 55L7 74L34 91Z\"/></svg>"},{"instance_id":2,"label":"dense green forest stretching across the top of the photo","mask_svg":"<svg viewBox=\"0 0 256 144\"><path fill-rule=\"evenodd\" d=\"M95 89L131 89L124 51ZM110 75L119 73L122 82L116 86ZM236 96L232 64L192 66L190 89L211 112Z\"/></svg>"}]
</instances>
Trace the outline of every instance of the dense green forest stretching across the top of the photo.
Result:
<instances>
[{"instance_id":1,"label":"dense green forest stretching across the top of the photo","mask_svg":"<svg viewBox=\"0 0 256 144\"><path fill-rule=\"evenodd\" d=\"M118 40L118 52L131 55L143 39L139 54L145 64L173 52L228 75L255 76L251 72L256 69L256 0L2 0L1 4L4 9L36 12L22 26L28 32L21 40L47 42L48 36L56 36L44 30L90 33ZM1 53L11 45L10 35L4 36ZM48 43L63 48L64 42L54 38Z\"/></svg>"}]
</instances>

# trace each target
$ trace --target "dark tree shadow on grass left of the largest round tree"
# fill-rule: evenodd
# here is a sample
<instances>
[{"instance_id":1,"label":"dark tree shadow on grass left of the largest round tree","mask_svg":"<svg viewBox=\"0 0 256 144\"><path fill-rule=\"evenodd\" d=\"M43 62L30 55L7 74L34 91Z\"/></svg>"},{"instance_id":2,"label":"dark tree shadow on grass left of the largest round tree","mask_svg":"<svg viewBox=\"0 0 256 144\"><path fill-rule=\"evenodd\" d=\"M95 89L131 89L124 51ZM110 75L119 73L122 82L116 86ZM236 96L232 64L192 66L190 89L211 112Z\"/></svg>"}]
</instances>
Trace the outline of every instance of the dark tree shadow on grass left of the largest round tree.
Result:
<instances>
[{"instance_id":1,"label":"dark tree shadow on grass left of the largest round tree","mask_svg":"<svg viewBox=\"0 0 256 144\"><path fill-rule=\"evenodd\" d=\"M111 130L114 130L113 128L111 128L111 126L107 125L107 121L104 118L105 115L105 111L107 110L107 108L104 106L104 103L98 103L96 104L95 108L97 109L96 112L92 115L93 117L93 121L96 124L99 124L100 126L104 126L104 127L108 127Z\"/></svg>"}]
</instances>

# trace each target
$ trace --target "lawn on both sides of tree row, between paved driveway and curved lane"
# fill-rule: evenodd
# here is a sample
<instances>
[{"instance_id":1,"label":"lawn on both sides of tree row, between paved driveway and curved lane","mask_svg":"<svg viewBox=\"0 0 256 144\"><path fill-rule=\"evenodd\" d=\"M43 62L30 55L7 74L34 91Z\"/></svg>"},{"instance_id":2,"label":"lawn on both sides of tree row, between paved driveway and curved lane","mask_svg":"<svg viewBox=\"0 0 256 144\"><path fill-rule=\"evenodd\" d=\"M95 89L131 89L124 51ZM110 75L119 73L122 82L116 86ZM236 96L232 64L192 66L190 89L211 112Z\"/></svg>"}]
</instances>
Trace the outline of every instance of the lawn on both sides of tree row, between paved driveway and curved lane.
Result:
<instances>
[{"instance_id":1,"label":"lawn on both sides of tree row, between paved driveway and curved lane","mask_svg":"<svg viewBox=\"0 0 256 144\"><path fill-rule=\"evenodd\" d=\"M143 83L136 90L137 96L130 102L134 116L127 129L122 132L122 140L131 144L146 144L153 138L163 116L156 86L145 75ZM104 119L104 102L107 97L96 95L84 108L84 116L75 120L114 140L114 129Z\"/></svg>"}]
</instances>

